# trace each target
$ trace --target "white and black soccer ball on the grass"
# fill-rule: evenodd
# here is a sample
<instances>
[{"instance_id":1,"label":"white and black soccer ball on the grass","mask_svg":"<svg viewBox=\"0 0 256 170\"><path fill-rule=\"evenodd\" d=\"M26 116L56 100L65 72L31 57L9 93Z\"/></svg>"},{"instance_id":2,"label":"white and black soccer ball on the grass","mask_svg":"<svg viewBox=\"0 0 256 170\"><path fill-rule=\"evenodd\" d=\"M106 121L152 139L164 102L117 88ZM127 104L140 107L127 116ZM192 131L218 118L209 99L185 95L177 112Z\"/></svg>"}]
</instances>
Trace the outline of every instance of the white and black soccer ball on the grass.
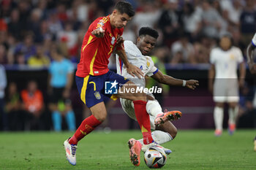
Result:
<instances>
[{"instance_id":1,"label":"white and black soccer ball on the grass","mask_svg":"<svg viewBox=\"0 0 256 170\"><path fill-rule=\"evenodd\" d=\"M165 151L159 147L149 147L144 154L144 161L151 169L159 169L166 163Z\"/></svg>"}]
</instances>

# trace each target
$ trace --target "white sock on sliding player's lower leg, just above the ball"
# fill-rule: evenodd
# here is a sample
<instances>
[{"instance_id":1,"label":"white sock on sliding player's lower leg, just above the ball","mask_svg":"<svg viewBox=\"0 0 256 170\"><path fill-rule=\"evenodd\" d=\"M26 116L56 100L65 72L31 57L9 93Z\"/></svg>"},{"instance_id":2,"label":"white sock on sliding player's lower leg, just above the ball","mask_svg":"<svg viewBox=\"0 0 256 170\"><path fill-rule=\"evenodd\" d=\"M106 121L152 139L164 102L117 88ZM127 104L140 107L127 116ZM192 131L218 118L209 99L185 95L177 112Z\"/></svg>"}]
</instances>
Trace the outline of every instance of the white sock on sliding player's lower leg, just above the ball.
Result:
<instances>
[{"instance_id":1,"label":"white sock on sliding player's lower leg, just above the ball","mask_svg":"<svg viewBox=\"0 0 256 170\"><path fill-rule=\"evenodd\" d=\"M166 142L173 140L173 137L170 136L169 133L164 131L157 130L157 131L153 131L151 134L154 139L154 142L157 142L158 144L164 144ZM140 142L140 144L143 144L143 139L139 139L138 141Z\"/></svg>"}]
</instances>

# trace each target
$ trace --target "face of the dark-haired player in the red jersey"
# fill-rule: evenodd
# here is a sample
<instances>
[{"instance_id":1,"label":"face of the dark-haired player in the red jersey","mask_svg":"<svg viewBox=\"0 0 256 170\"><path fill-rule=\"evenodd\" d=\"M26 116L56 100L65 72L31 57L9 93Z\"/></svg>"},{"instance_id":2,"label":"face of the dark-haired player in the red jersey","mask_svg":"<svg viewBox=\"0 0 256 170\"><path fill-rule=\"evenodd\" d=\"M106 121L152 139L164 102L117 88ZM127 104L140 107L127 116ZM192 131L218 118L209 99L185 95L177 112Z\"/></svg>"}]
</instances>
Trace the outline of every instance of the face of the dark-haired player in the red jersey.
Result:
<instances>
[{"instance_id":1,"label":"face of the dark-haired player in the red jersey","mask_svg":"<svg viewBox=\"0 0 256 170\"><path fill-rule=\"evenodd\" d=\"M117 10L113 11L113 22L111 23L111 26L114 28L124 28L124 26L127 26L127 23L129 20L132 20L129 15L126 13L121 14Z\"/></svg>"}]
</instances>

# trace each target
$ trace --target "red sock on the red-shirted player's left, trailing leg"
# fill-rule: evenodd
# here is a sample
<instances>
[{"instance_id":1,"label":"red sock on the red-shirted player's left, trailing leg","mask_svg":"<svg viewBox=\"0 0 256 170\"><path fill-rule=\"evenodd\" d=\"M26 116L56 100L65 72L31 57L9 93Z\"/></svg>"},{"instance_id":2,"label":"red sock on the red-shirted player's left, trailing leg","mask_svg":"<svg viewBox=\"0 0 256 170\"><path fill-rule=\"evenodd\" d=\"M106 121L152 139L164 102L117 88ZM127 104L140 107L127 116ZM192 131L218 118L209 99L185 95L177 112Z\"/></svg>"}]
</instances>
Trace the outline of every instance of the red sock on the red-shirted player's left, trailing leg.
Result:
<instances>
[{"instance_id":1,"label":"red sock on the red-shirted player's left, trailing leg","mask_svg":"<svg viewBox=\"0 0 256 170\"><path fill-rule=\"evenodd\" d=\"M90 134L91 131L94 131L94 128L100 125L100 123L101 122L99 122L99 120L97 120L94 115L87 117L80 124L79 128L77 129L77 131L75 131L75 134L72 136L72 138L69 139L69 144L78 144L78 141L80 141L80 139L83 139L84 136Z\"/></svg>"}]
</instances>

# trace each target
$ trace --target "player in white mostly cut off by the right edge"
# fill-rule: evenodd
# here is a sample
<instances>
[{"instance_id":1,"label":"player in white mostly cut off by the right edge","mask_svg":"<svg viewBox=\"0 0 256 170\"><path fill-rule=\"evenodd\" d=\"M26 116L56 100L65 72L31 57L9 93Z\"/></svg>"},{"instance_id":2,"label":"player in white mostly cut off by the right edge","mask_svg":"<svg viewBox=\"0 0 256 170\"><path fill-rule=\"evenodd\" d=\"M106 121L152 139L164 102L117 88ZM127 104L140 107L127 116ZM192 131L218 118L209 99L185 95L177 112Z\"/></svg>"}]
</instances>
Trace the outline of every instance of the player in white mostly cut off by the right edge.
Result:
<instances>
[{"instance_id":1,"label":"player in white mostly cut off by the right edge","mask_svg":"<svg viewBox=\"0 0 256 170\"><path fill-rule=\"evenodd\" d=\"M248 66L249 66L249 71L252 74L256 74L256 63L254 61L255 49L256 49L256 33L252 38L252 42L250 42L248 47L247 47L247 55L246 55L247 63L248 63ZM256 136L255 136L255 139L254 139L254 144L255 144L254 150L256 152Z\"/></svg>"}]
</instances>

